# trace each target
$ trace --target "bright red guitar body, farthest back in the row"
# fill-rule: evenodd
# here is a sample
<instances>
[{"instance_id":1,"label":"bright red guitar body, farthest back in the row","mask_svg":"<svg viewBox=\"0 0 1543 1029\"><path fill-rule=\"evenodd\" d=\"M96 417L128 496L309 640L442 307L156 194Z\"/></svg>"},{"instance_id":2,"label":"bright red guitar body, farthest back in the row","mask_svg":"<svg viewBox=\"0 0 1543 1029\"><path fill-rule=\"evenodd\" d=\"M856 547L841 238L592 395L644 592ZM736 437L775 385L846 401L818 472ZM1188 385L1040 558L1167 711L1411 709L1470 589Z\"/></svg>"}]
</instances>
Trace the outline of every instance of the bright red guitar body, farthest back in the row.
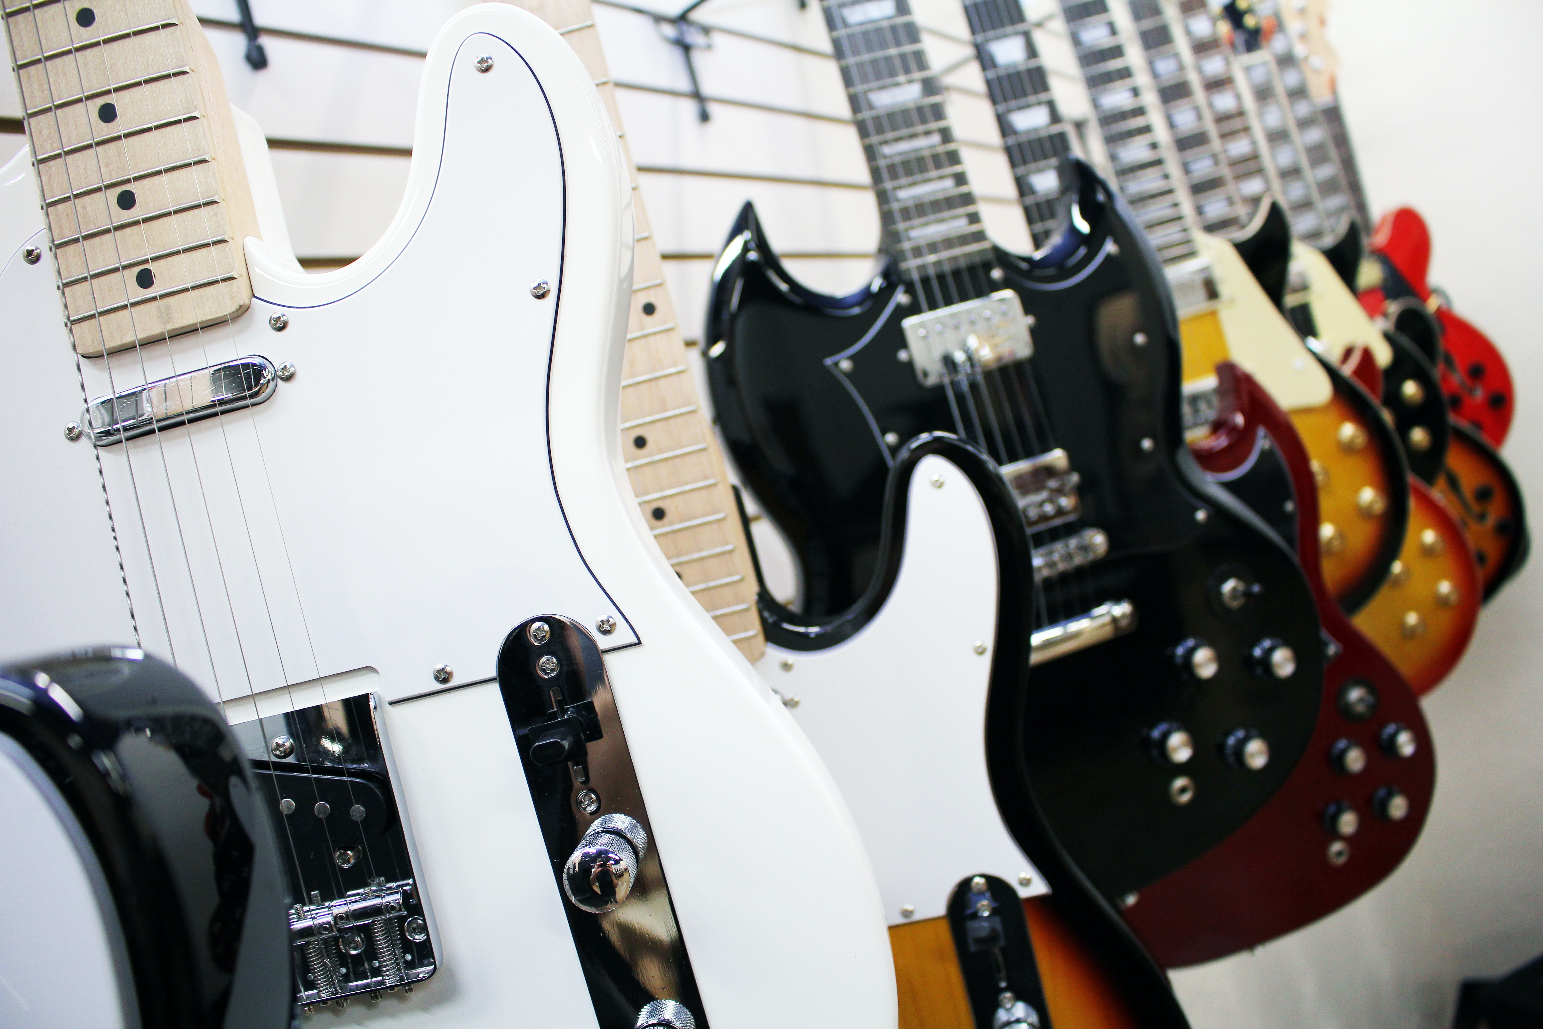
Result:
<instances>
[{"instance_id":1,"label":"bright red guitar body, farthest back in the row","mask_svg":"<svg viewBox=\"0 0 1543 1029\"><path fill-rule=\"evenodd\" d=\"M1384 281L1381 288L1361 293L1361 305L1373 318L1383 313L1383 305L1400 296L1415 296L1430 302L1430 230L1418 211L1409 207L1389 211L1376 224L1372 250L1395 273L1393 281ZM1452 406L1452 417L1477 427L1494 446L1506 441L1511 418L1515 413L1515 393L1511 384L1511 369L1500 349L1472 322L1443 305L1437 309L1441 321L1446 359L1440 361L1441 389Z\"/></svg>"}]
</instances>

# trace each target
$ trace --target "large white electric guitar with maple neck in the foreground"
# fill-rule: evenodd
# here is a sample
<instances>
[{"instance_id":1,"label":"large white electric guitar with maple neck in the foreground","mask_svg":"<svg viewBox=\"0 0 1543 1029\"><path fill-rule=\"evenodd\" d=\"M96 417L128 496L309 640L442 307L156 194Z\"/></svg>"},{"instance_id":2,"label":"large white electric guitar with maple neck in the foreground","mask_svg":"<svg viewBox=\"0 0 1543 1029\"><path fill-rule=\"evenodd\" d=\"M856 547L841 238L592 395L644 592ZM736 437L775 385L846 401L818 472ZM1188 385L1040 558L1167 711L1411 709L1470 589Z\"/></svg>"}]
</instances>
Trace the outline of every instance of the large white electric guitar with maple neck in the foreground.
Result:
<instances>
[{"instance_id":1,"label":"large white electric guitar with maple neck in the foreground","mask_svg":"<svg viewBox=\"0 0 1543 1029\"><path fill-rule=\"evenodd\" d=\"M134 640L224 707L298 1000L893 1026L852 818L628 488L631 199L562 39L454 17L395 221L306 275L185 0L5 15L0 653Z\"/></svg>"}]
</instances>

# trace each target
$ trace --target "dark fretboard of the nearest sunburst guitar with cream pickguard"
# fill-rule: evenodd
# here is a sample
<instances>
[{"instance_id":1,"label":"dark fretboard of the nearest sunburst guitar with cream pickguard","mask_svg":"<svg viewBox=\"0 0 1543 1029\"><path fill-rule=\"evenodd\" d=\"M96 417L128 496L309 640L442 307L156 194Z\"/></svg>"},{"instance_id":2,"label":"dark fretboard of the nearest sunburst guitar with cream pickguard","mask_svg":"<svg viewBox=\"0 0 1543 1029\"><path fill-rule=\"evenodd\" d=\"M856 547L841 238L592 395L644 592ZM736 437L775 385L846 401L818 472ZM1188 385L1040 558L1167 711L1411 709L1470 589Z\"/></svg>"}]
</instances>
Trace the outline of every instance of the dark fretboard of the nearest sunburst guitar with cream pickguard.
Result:
<instances>
[{"instance_id":1,"label":"dark fretboard of the nearest sunburst guitar with cream pickguard","mask_svg":"<svg viewBox=\"0 0 1543 1029\"><path fill-rule=\"evenodd\" d=\"M1120 193L1136 210L1163 264L1194 258L1194 236L1179 184L1153 125L1146 89L1136 80L1108 2L1062 0L1062 14Z\"/></svg>"}]
</instances>

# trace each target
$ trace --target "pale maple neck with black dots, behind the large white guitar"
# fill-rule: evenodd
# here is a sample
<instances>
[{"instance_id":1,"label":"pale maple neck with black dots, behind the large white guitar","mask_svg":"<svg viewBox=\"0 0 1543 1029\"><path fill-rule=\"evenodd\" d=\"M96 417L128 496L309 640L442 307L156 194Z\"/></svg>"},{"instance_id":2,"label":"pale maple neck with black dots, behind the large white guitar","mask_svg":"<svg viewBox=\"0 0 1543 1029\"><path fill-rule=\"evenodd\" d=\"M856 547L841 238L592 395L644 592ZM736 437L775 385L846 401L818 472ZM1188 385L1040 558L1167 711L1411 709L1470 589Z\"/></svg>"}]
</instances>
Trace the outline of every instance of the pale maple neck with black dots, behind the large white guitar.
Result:
<instances>
[{"instance_id":1,"label":"pale maple neck with black dots, behind the large white guitar","mask_svg":"<svg viewBox=\"0 0 1543 1029\"><path fill-rule=\"evenodd\" d=\"M765 651L758 580L724 454L687 363L663 262L622 130L589 0L518 0L568 40L600 89L633 182L637 242L622 366L622 454L643 520L691 595L751 662Z\"/></svg>"}]
</instances>

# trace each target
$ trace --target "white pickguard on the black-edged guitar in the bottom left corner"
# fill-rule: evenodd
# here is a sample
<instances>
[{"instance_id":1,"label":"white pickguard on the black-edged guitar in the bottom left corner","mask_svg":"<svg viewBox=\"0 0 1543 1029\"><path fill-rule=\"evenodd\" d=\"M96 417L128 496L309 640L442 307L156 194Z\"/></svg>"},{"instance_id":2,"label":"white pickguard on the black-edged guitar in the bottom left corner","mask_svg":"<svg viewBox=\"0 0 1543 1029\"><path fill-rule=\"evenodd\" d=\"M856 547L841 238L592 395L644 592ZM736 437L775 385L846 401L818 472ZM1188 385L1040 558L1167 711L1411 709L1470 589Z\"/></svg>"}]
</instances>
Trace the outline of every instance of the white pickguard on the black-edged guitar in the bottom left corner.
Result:
<instances>
[{"instance_id":1,"label":"white pickguard on the black-edged guitar in the bottom left corner","mask_svg":"<svg viewBox=\"0 0 1543 1029\"><path fill-rule=\"evenodd\" d=\"M134 987L117 960L127 960L123 941L85 832L48 774L5 734L0 825L0 1026L137 1026Z\"/></svg>"}]
</instances>

